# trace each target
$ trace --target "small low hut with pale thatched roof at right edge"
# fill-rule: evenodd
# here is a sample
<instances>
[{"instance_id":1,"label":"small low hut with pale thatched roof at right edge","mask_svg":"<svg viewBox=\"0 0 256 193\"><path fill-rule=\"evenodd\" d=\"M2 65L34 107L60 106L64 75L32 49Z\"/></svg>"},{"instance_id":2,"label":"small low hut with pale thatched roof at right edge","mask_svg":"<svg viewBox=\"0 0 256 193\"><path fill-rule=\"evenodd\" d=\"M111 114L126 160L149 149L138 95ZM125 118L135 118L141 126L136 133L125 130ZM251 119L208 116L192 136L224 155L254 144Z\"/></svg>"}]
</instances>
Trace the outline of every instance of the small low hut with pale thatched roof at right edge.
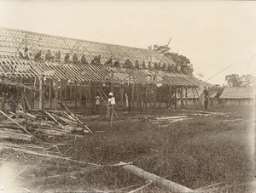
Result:
<instances>
[{"instance_id":1,"label":"small low hut with pale thatched roof at right edge","mask_svg":"<svg viewBox=\"0 0 256 193\"><path fill-rule=\"evenodd\" d=\"M253 105L255 91L253 88L224 88L219 99L223 105Z\"/></svg>"}]
</instances>

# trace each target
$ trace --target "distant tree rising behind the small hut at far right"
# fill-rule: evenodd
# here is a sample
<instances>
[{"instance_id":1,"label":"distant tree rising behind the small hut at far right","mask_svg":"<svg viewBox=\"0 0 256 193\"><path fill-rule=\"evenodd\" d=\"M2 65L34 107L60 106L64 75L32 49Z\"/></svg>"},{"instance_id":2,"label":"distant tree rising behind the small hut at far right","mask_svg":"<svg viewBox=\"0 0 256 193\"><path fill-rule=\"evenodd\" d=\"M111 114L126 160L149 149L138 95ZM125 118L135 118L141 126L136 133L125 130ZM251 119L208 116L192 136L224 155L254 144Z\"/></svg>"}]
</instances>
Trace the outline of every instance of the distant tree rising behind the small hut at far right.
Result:
<instances>
[{"instance_id":1,"label":"distant tree rising behind the small hut at far right","mask_svg":"<svg viewBox=\"0 0 256 193\"><path fill-rule=\"evenodd\" d=\"M253 76L231 74L225 77L225 81L229 87L251 87L253 84Z\"/></svg>"}]
</instances>

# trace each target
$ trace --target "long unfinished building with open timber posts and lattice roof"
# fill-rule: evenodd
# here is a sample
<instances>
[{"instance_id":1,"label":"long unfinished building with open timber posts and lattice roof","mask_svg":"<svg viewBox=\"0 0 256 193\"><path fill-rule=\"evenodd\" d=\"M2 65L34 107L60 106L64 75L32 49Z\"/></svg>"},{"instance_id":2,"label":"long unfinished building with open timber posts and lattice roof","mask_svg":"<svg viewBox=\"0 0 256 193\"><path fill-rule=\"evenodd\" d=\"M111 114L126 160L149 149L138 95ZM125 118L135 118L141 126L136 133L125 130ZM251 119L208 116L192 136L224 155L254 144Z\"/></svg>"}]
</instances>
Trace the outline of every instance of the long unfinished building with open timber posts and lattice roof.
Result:
<instances>
[{"instance_id":1,"label":"long unfinished building with open timber posts and lattice roof","mask_svg":"<svg viewBox=\"0 0 256 193\"><path fill-rule=\"evenodd\" d=\"M113 93L119 106L124 106L128 98L131 109L177 108L178 96L183 96L179 97L178 108L186 108L188 89L200 84L195 77L181 71L149 68L148 64L174 64L172 59L151 49L6 28L0 28L0 43L0 75L39 88L38 93L26 96L33 108L53 108L57 101L70 107L93 108L99 96L102 110L108 92ZM24 49L27 58L22 55ZM49 52L50 57L59 53L59 59L48 60ZM74 58L67 62L67 54L84 57L88 62L83 64ZM96 56L100 57L100 64L90 62ZM137 69L120 66L127 60L132 66L137 62L145 66Z\"/></svg>"}]
</instances>

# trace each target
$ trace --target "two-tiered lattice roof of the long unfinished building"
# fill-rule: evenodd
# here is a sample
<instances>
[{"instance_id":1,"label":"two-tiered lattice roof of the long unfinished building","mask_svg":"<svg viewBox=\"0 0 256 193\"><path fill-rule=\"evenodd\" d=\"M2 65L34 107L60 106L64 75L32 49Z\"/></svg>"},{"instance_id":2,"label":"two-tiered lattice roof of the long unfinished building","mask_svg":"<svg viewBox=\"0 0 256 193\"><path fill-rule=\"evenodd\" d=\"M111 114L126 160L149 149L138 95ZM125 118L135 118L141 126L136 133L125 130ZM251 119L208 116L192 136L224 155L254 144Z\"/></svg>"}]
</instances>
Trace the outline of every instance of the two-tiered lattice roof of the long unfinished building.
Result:
<instances>
[{"instance_id":1,"label":"two-tiered lattice roof of the long unfinished building","mask_svg":"<svg viewBox=\"0 0 256 193\"><path fill-rule=\"evenodd\" d=\"M161 83L166 85L187 85L197 87L199 81L183 73L168 73L166 71L128 70L113 68L106 65L74 65L49 62L46 60L20 60L19 51L29 48L32 55L48 49L52 54L61 51L61 60L69 53L79 57L85 54L87 60L101 55L102 63L113 57L119 63L130 59L151 64L160 62L162 54L143 48L131 48L107 43L95 43L69 37L56 37L31 31L20 31L0 28L0 76L3 77L46 77L51 79L66 79L79 82L113 82L124 83L128 79L134 83ZM167 65L174 62L163 57L162 63Z\"/></svg>"}]
</instances>

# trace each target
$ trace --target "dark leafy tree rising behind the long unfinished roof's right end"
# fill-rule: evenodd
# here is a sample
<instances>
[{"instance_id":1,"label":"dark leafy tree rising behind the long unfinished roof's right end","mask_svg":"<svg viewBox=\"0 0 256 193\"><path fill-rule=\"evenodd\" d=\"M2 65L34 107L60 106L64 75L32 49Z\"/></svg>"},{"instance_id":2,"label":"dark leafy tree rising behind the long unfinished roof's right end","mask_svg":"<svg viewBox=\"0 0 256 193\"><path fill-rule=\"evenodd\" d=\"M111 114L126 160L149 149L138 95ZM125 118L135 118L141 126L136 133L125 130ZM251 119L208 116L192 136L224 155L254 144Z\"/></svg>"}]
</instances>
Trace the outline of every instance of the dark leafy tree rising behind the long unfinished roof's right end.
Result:
<instances>
[{"instance_id":1,"label":"dark leafy tree rising behind the long unfinished roof's right end","mask_svg":"<svg viewBox=\"0 0 256 193\"><path fill-rule=\"evenodd\" d=\"M174 52L170 52L170 48L167 45L164 46L160 46L160 45L154 45L154 46L148 46L149 49L153 49L153 50L157 50L160 53L164 54L166 57L172 59L172 61L176 64L176 65L180 65L182 71L185 74L191 75L192 76L192 72L193 70L193 65L190 63L190 60L184 56L184 55L179 55L177 53Z\"/></svg>"}]
</instances>

